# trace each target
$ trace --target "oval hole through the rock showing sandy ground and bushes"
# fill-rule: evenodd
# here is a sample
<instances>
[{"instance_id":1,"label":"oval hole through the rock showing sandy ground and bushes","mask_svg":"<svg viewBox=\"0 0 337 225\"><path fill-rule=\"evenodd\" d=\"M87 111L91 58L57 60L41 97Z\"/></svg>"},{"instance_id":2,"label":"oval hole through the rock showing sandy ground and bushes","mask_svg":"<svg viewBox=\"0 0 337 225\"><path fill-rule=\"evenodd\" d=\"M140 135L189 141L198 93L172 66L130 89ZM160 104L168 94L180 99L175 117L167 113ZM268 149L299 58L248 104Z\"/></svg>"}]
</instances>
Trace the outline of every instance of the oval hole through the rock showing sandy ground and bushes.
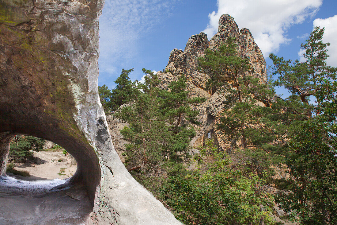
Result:
<instances>
[{"instance_id":1,"label":"oval hole through the rock showing sandy ground and bushes","mask_svg":"<svg viewBox=\"0 0 337 225\"><path fill-rule=\"evenodd\" d=\"M33 136L16 135L9 144L6 175L27 181L68 179L76 159L61 146Z\"/></svg>"}]
</instances>

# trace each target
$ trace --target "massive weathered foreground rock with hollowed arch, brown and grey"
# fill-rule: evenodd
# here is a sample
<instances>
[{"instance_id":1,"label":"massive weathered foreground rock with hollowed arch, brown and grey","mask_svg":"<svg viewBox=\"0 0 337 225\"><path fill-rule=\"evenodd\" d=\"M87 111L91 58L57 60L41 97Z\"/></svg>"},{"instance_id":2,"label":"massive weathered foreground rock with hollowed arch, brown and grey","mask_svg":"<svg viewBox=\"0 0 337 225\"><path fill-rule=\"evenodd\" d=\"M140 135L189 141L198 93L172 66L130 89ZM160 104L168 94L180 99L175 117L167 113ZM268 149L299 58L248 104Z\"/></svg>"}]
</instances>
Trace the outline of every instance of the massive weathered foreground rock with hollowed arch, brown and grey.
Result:
<instances>
[{"instance_id":1,"label":"massive weathered foreground rock with hollowed arch, brown and grey","mask_svg":"<svg viewBox=\"0 0 337 225\"><path fill-rule=\"evenodd\" d=\"M68 182L85 184L89 224L180 224L132 178L112 144L97 91L103 4L0 0L0 175L14 135L37 136L76 159Z\"/></svg>"}]
</instances>

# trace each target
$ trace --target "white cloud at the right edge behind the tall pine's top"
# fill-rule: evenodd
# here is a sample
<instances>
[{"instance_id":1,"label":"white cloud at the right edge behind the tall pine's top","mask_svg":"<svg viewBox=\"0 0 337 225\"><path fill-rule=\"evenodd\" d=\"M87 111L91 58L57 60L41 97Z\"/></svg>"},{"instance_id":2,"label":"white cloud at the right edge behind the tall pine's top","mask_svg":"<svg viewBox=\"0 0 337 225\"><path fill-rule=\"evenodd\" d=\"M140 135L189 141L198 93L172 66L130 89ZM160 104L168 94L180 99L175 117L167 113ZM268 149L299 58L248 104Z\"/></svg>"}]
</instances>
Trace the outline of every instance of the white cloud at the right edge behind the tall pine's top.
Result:
<instances>
[{"instance_id":1,"label":"white cloud at the right edge behind the tall pine's top","mask_svg":"<svg viewBox=\"0 0 337 225\"><path fill-rule=\"evenodd\" d=\"M327 47L328 55L330 55L327 59L327 64L337 67L337 15L327 19L315 19L313 26L325 27L323 42L330 42L330 46Z\"/></svg>"}]
</instances>

